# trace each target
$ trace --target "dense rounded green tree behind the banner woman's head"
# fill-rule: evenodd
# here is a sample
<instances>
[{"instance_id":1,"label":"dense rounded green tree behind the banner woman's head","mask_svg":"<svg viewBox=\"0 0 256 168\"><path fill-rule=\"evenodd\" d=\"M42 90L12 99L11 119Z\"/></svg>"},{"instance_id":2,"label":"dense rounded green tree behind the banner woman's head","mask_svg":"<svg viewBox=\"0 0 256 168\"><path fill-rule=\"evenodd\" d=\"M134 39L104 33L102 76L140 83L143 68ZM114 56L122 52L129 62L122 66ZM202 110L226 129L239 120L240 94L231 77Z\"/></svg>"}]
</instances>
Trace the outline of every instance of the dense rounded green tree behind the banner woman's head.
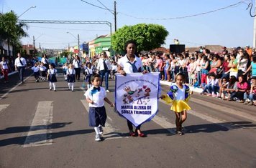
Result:
<instances>
[{"instance_id":1,"label":"dense rounded green tree behind the banner woman's head","mask_svg":"<svg viewBox=\"0 0 256 168\"><path fill-rule=\"evenodd\" d=\"M149 51L165 44L168 31L158 24L137 24L123 26L111 36L111 45L115 51L124 51L124 44L128 40L137 42L138 51Z\"/></svg>"}]
</instances>

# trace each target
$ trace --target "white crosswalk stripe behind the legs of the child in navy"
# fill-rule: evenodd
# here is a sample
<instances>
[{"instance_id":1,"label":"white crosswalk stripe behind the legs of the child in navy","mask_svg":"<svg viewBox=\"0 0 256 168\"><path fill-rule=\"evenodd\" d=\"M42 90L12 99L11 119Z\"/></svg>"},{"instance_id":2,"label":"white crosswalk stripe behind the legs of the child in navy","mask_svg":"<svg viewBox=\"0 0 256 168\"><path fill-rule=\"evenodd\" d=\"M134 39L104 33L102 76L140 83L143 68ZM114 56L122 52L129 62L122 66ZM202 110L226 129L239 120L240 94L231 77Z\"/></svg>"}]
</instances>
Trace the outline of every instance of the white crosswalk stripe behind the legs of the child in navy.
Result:
<instances>
[{"instance_id":1,"label":"white crosswalk stripe behind the legs of the child in navy","mask_svg":"<svg viewBox=\"0 0 256 168\"><path fill-rule=\"evenodd\" d=\"M84 99L82 99L81 102L82 102L83 106L86 108L86 111L89 112L88 102L86 102L86 100L84 100ZM110 117L108 117L108 118L109 118L109 120L112 121L112 119ZM119 130L112 127L111 124L109 124L109 122L106 122L105 127L104 127L105 140L123 138L122 135L120 133L118 133L118 131Z\"/></svg>"}]
</instances>

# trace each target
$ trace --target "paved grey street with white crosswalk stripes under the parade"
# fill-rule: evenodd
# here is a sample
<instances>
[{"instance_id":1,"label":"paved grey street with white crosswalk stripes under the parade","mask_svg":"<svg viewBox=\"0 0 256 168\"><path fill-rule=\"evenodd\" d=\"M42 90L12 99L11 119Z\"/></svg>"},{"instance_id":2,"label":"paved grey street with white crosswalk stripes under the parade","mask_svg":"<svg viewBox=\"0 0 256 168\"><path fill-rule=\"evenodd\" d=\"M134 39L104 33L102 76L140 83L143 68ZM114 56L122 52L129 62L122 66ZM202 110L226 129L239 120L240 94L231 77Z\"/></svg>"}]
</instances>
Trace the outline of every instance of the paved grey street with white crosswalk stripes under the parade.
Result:
<instances>
[{"instance_id":1,"label":"paved grey street with white crosswalk stripes under the parade","mask_svg":"<svg viewBox=\"0 0 256 168\"><path fill-rule=\"evenodd\" d=\"M256 107L194 93L178 136L175 114L160 100L141 138L128 137L127 121L105 104L105 140L95 142L82 81L70 92L60 74L52 92L29 75L22 85L18 74L0 84L0 167L256 167ZM113 80L110 90L114 102Z\"/></svg>"}]
</instances>

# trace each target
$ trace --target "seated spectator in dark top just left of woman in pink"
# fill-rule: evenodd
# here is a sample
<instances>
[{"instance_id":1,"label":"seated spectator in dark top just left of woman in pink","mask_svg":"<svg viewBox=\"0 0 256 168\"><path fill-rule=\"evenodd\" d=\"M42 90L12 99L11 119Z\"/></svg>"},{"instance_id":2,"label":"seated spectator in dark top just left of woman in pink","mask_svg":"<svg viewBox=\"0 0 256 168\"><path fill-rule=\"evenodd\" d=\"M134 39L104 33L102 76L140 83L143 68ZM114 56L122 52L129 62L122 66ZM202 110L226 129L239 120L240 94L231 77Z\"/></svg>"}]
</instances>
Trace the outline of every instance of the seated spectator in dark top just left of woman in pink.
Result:
<instances>
[{"instance_id":1,"label":"seated spectator in dark top just left of woman in pink","mask_svg":"<svg viewBox=\"0 0 256 168\"><path fill-rule=\"evenodd\" d=\"M230 76L229 84L227 85L227 89L224 89L223 91L222 99L226 100L226 97L228 97L227 100L232 101L231 97L233 97L233 95L236 94L236 90L237 90L237 78L235 76Z\"/></svg>"}]
</instances>

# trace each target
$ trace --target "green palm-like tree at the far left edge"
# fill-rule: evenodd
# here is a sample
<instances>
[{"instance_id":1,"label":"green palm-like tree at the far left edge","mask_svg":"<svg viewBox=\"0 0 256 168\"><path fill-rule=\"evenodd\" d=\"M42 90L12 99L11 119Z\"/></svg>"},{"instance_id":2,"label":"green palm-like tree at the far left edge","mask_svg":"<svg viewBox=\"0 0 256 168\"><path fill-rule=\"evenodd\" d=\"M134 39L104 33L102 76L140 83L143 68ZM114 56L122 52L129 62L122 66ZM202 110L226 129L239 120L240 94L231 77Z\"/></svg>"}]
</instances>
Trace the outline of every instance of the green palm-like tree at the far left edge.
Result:
<instances>
[{"instance_id":1,"label":"green palm-like tree at the far left edge","mask_svg":"<svg viewBox=\"0 0 256 168\"><path fill-rule=\"evenodd\" d=\"M10 45L14 47L13 50L22 46L20 39L28 36L24 29L27 29L27 24L18 22L18 17L14 12L11 11L0 15L1 39L7 41L8 55L10 54Z\"/></svg>"}]
</instances>

